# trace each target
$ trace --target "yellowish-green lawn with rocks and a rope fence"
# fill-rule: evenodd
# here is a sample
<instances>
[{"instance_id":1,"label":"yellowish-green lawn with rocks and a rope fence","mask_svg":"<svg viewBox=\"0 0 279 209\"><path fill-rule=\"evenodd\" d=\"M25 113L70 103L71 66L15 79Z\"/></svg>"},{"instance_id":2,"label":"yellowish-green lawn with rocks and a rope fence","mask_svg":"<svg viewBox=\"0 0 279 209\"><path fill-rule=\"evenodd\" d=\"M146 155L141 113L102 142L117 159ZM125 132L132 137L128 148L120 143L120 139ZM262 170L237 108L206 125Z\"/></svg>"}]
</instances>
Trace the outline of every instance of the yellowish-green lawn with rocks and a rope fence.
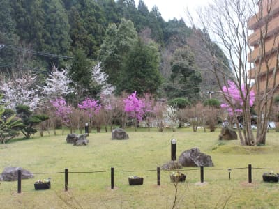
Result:
<instances>
[{"instance_id":1,"label":"yellowish-green lawn with rocks and a rope fence","mask_svg":"<svg viewBox=\"0 0 279 209\"><path fill-rule=\"evenodd\" d=\"M20 194L16 181L1 182L0 208L172 208L176 189L169 180L171 171L161 170L160 186L156 178L156 167L170 161L172 138L177 140L177 158L184 150L198 147L211 155L215 165L204 169L204 184L200 183L199 169L183 168L186 183L178 184L175 208L279 207L279 184L262 181L262 173L279 169L279 139L273 130L267 135L266 146L257 147L240 146L239 141L218 141L220 130L127 132L130 139L123 141L112 140L110 133L90 133L89 145L80 147L66 144L66 134L1 144L0 172L12 166L42 174L22 180ZM252 183L248 183L248 164L254 168ZM115 169L113 190L111 167ZM64 192L66 168L69 172L92 173L69 173L69 190ZM142 176L144 184L128 185L128 176L132 175ZM34 189L36 180L48 177L52 180L51 189Z\"/></svg>"}]
</instances>

